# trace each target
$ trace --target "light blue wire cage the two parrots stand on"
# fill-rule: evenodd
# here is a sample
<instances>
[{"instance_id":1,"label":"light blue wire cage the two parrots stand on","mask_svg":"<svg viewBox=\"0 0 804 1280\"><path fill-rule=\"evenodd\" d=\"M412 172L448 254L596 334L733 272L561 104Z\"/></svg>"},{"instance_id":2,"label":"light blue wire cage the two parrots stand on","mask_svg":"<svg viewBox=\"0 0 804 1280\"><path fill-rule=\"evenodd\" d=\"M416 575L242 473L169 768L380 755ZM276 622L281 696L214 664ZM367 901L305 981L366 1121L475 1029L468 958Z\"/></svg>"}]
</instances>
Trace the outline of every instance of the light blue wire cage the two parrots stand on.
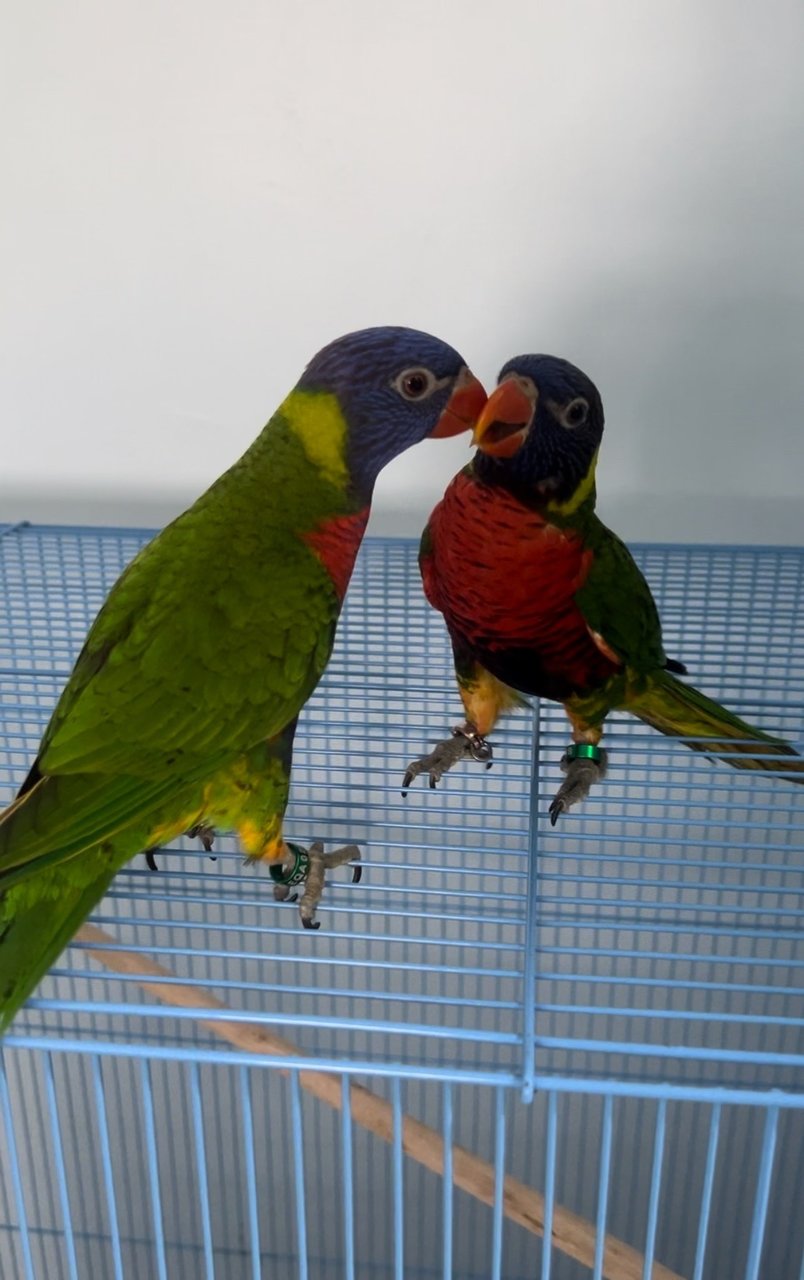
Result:
<instances>
[{"instance_id":1,"label":"light blue wire cage the two parrots stand on","mask_svg":"<svg viewBox=\"0 0 804 1280\"><path fill-rule=\"evenodd\" d=\"M5 803L147 534L1 534ZM800 742L804 553L636 554L668 652ZM615 718L553 829L543 704L403 800L458 712L414 544L366 543L287 823L362 883L311 934L228 840L117 877L3 1044L4 1280L804 1280L804 788Z\"/></svg>"}]
</instances>

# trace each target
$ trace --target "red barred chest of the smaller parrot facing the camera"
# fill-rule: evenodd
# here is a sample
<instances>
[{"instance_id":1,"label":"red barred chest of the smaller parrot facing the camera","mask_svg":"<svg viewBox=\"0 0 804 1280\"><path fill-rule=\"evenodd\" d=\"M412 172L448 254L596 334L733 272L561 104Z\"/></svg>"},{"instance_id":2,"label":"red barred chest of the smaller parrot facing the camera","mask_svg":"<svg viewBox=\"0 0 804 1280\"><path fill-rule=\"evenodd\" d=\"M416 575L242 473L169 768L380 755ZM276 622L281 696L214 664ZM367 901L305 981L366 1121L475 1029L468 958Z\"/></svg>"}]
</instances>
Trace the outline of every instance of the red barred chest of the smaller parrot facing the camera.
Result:
<instances>
[{"instance_id":1,"label":"red barred chest of the smaller parrot facing the camera","mask_svg":"<svg viewBox=\"0 0 804 1280\"><path fill-rule=\"evenodd\" d=\"M428 599L481 662L516 653L517 673L533 669L531 685L520 673L515 687L543 692L556 677L581 690L616 669L575 603L593 559L575 532L463 474L433 513L431 529L433 554L422 566ZM522 668L522 650L533 654L530 668Z\"/></svg>"}]
</instances>

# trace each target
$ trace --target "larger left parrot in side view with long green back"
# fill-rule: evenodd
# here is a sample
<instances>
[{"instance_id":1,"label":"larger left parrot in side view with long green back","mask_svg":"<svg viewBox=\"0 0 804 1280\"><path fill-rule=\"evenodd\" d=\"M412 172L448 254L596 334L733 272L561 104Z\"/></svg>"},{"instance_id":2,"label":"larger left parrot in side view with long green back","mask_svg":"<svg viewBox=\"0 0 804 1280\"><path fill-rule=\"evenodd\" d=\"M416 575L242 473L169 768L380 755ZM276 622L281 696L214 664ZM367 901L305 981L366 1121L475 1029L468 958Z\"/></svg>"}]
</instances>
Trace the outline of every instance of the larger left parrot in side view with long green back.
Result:
<instances>
[{"instance_id":1,"label":"larger left parrot in side view with long green back","mask_svg":"<svg viewBox=\"0 0 804 1280\"><path fill-rule=\"evenodd\" d=\"M0 1033L114 874L140 852L233 829L278 887L297 718L326 667L376 476L469 430L485 392L416 329L324 347L246 453L147 543L100 609L17 799L0 814ZM277 895L282 897L282 893Z\"/></svg>"}]
</instances>

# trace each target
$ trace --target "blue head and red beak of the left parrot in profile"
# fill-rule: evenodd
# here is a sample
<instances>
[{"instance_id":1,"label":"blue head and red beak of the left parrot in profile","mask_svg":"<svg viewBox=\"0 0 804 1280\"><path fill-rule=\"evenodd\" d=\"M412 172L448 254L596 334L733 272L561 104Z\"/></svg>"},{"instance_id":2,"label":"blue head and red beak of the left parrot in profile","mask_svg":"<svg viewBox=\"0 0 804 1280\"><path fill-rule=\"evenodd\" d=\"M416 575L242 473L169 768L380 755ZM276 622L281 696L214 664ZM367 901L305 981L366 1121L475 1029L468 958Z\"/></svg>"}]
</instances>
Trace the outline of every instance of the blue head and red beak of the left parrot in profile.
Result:
<instances>
[{"instance_id":1,"label":"blue head and red beak of the left parrot in profile","mask_svg":"<svg viewBox=\"0 0 804 1280\"><path fill-rule=\"evenodd\" d=\"M366 498L387 462L428 435L469 430L485 404L483 387L457 351L428 333L390 325L330 342L296 390L337 398L350 484Z\"/></svg>"}]
</instances>

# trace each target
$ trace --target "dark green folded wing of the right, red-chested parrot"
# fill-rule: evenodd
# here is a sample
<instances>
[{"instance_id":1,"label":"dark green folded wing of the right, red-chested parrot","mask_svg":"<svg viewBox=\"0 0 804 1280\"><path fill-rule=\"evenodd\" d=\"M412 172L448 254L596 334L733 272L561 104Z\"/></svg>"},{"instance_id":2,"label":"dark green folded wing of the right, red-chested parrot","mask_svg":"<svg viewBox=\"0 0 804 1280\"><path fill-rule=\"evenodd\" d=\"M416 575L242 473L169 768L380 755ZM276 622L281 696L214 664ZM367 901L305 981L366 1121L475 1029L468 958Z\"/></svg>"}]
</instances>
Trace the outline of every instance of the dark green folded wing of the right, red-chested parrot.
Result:
<instances>
[{"instance_id":1,"label":"dark green folded wing of the right, red-chested parrot","mask_svg":"<svg viewBox=\"0 0 804 1280\"><path fill-rule=\"evenodd\" d=\"M663 667L662 623L630 550L597 516L584 541L593 561L575 599L589 630L635 671Z\"/></svg>"}]
</instances>

